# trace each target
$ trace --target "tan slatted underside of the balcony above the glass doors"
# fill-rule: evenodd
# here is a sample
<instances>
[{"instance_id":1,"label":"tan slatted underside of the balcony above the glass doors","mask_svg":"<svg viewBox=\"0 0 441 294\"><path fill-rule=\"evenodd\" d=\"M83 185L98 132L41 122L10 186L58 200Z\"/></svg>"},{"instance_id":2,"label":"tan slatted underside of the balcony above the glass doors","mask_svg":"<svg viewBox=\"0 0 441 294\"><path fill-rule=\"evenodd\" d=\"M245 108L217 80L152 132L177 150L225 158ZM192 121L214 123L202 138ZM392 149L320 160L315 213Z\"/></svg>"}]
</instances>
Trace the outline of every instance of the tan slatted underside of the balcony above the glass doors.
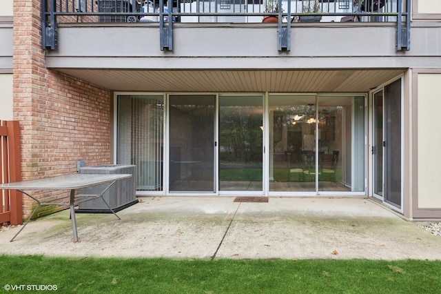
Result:
<instances>
[{"instance_id":1,"label":"tan slatted underside of the balcony above the glass doors","mask_svg":"<svg viewBox=\"0 0 441 294\"><path fill-rule=\"evenodd\" d=\"M68 75L118 91L367 92L404 70L91 70Z\"/></svg>"}]
</instances>

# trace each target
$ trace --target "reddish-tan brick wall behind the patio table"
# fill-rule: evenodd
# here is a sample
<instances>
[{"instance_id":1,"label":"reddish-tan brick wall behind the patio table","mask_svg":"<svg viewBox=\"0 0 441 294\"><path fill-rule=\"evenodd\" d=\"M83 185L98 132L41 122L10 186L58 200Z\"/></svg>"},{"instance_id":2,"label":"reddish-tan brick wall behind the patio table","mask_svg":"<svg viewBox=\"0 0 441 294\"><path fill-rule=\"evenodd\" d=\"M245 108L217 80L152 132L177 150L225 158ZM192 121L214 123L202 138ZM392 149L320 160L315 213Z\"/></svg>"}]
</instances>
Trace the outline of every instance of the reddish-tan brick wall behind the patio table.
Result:
<instances>
[{"instance_id":1,"label":"reddish-tan brick wall behind the patio table","mask_svg":"<svg viewBox=\"0 0 441 294\"><path fill-rule=\"evenodd\" d=\"M76 173L76 161L110 164L110 91L45 68L41 0L14 0L14 119L20 121L22 177ZM65 193L39 192L47 200ZM23 197L23 215L34 202ZM59 210L46 206L37 213Z\"/></svg>"}]
</instances>

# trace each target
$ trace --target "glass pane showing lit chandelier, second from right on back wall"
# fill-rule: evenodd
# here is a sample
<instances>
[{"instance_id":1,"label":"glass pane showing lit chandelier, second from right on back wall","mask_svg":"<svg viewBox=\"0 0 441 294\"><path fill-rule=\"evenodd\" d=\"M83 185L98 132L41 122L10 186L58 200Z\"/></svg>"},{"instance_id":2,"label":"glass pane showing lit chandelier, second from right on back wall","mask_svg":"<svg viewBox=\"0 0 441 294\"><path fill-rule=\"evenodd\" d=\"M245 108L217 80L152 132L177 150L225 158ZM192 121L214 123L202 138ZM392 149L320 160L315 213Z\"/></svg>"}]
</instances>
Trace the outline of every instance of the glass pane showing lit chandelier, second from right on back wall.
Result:
<instances>
[{"instance_id":1,"label":"glass pane showing lit chandelier, second from right on back wall","mask_svg":"<svg viewBox=\"0 0 441 294\"><path fill-rule=\"evenodd\" d=\"M316 95L269 97L269 191L316 191Z\"/></svg>"}]
</instances>

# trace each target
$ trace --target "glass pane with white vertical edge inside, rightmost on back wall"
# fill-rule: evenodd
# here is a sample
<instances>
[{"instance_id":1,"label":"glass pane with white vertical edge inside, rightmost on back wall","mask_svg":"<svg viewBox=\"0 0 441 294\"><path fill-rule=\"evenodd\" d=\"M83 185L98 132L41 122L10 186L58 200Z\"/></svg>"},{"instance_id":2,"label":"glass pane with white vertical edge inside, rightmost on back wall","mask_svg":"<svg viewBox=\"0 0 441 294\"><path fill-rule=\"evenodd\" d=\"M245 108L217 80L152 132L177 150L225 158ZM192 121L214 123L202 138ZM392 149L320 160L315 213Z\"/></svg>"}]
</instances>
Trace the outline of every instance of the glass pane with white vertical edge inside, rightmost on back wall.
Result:
<instances>
[{"instance_id":1,"label":"glass pane with white vertical edge inside, rightmost on back wall","mask_svg":"<svg viewBox=\"0 0 441 294\"><path fill-rule=\"evenodd\" d=\"M365 97L318 97L318 190L365 190Z\"/></svg>"}]
</instances>

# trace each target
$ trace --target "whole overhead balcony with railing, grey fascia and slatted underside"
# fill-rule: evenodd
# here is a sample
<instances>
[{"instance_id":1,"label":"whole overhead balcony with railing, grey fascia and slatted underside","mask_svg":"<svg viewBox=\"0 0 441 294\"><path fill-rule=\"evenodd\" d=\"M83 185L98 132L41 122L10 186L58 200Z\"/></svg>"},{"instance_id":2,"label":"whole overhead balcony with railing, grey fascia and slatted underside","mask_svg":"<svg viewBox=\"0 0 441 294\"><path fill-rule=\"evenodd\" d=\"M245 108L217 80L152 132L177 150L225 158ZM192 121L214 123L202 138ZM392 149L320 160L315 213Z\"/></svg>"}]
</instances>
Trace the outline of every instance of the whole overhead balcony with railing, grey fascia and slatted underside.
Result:
<instances>
[{"instance_id":1,"label":"whole overhead balcony with railing, grey fascia and slatted underside","mask_svg":"<svg viewBox=\"0 0 441 294\"><path fill-rule=\"evenodd\" d=\"M438 54L418 24L409 51L410 3L402 0L378 11L322 0L311 13L300 0L280 1L283 11L272 13L265 0L174 0L173 10L158 10L167 7L158 0L103 1L43 1L47 68L115 91L367 92ZM267 14L278 22L263 23ZM321 18L300 20L307 15Z\"/></svg>"}]
</instances>

